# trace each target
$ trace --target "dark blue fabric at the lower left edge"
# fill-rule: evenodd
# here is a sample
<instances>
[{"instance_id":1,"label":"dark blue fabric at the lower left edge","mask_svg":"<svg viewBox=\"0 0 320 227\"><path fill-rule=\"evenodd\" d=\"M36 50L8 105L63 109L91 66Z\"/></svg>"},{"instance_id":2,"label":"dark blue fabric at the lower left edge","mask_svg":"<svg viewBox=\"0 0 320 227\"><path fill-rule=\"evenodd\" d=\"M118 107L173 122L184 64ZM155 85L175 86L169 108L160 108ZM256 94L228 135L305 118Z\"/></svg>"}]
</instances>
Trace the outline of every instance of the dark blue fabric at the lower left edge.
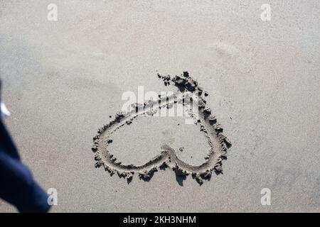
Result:
<instances>
[{"instance_id":1,"label":"dark blue fabric at the lower left edge","mask_svg":"<svg viewBox=\"0 0 320 227\"><path fill-rule=\"evenodd\" d=\"M20 212L47 212L48 194L23 165L18 150L0 119L0 198Z\"/></svg>"}]
</instances>

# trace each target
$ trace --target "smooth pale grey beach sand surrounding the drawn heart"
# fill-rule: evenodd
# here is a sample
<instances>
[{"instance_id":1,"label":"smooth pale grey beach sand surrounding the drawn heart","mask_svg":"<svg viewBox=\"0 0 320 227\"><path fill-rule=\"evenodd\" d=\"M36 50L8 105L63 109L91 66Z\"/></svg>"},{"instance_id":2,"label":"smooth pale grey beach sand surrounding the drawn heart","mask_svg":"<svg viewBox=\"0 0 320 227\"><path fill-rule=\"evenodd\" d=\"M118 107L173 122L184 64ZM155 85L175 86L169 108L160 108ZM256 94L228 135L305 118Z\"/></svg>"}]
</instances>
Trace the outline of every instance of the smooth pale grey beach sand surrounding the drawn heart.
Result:
<instances>
[{"instance_id":1,"label":"smooth pale grey beach sand surrounding the drawn heart","mask_svg":"<svg viewBox=\"0 0 320 227\"><path fill-rule=\"evenodd\" d=\"M52 2L1 1L0 75L23 162L58 190L53 212L320 211L319 1L271 1L267 22L265 1L55 0L50 22ZM223 175L180 186L161 170L127 184L94 167L97 128L122 108L123 92L164 90L156 70L188 70L210 93L233 143ZM132 127L119 149L143 143L148 133ZM154 139L145 153L122 156L153 157ZM260 203L263 188L270 206ZM0 211L16 209L0 201Z\"/></svg>"}]
</instances>

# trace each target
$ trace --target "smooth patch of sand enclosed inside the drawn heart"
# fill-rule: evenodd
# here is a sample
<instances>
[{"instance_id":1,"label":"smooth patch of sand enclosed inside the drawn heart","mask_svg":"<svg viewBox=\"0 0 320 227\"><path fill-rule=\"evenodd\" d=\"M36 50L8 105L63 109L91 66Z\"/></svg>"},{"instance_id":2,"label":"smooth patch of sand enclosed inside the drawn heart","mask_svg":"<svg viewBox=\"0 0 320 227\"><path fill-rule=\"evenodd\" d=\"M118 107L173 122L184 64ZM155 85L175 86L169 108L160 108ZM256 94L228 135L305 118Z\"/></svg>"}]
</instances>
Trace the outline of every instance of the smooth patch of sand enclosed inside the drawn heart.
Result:
<instances>
[{"instance_id":1,"label":"smooth patch of sand enclosed inside the drawn heart","mask_svg":"<svg viewBox=\"0 0 320 227\"><path fill-rule=\"evenodd\" d=\"M184 162L201 165L210 147L199 128L185 124L182 117L138 117L112 135L109 148L123 164L143 165L168 144Z\"/></svg>"}]
</instances>

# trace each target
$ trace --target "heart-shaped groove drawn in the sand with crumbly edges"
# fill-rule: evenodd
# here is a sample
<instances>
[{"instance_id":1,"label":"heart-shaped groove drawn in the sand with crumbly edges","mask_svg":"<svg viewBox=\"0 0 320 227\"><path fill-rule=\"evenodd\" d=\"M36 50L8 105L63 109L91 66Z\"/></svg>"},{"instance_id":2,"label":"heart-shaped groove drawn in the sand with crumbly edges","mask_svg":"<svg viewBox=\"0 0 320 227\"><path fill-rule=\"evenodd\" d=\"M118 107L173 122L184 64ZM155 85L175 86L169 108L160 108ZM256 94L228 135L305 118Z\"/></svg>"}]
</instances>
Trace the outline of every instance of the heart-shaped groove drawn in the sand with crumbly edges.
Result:
<instances>
[{"instance_id":1,"label":"heart-shaped groove drawn in the sand with crumbly edges","mask_svg":"<svg viewBox=\"0 0 320 227\"><path fill-rule=\"evenodd\" d=\"M206 105L205 97L207 92L203 92L203 88L198 86L198 82L193 79L188 72L183 72L181 76L171 77L170 75L163 76L158 74L158 77L164 81L166 86L173 84L178 88L178 91L171 96L159 96L157 101L148 101L144 104L133 104L132 111L119 112L114 119L102 126L97 131L97 135L93 138L94 145L92 151L95 153L95 167L104 167L110 175L117 175L121 178L126 178L127 182L132 181L133 175L137 174L140 179L149 181L153 177L154 172L166 170L170 168L176 172L176 176L180 179L186 179L187 175L191 175L196 179L198 184L203 184L204 179L210 179L212 172L217 175L222 173L222 160L226 159L227 150L231 143L225 135L223 128L217 123L215 116L211 114L210 108ZM197 94L197 99L190 97L190 94ZM188 96L188 99L186 99ZM198 114L194 114L192 108L189 109L190 116L196 124L200 125L200 131L206 136L210 150L205 157L206 162L201 165L189 165L180 160L176 155L176 150L168 144L161 145L160 154L146 162L144 165L123 165L117 161L108 145L112 143L111 135L120 128L129 125L138 116L151 116L161 108L170 109L176 103L182 103L183 106L188 100L188 105L196 106ZM181 184L181 183L179 183Z\"/></svg>"}]
</instances>

